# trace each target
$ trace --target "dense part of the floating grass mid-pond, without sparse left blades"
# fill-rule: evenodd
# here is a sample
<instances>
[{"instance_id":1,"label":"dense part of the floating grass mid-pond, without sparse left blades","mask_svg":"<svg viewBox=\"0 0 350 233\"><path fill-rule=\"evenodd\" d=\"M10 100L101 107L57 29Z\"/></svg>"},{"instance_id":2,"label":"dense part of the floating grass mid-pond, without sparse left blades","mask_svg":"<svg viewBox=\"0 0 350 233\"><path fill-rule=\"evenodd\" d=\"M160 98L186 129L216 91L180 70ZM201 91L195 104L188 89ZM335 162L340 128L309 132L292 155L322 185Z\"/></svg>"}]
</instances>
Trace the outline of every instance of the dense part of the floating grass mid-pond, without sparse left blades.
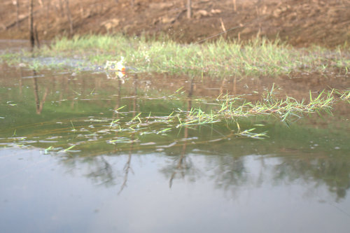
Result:
<instances>
[{"instance_id":1,"label":"dense part of the floating grass mid-pond, without sparse left blades","mask_svg":"<svg viewBox=\"0 0 350 233\"><path fill-rule=\"evenodd\" d=\"M154 133L166 134L172 129L179 127L199 127L201 125L210 125L216 122L227 120L236 122L237 129L232 132L236 136L244 136L253 139L263 139L267 136L267 132L255 132L255 128L241 130L238 120L255 115L269 115L281 120L281 122L289 122L298 120L304 114L318 113L321 111L331 113L332 104L336 101L349 101L350 91L339 92L338 90L322 91L316 97L297 101L293 97L285 99L276 99L274 95L274 86L265 94L263 101L255 103L243 101L239 97L229 97L225 95L216 99L218 108L212 108L209 113L205 113L200 108L191 108L190 111L182 111L178 109L164 117L151 116L142 117L142 113L138 113L130 121L122 123L118 119L113 119L109 125L109 129L117 129L120 132L138 132L140 135ZM335 94L341 94L340 98L335 98ZM118 111L116 111L118 113ZM150 120L151 119L151 120ZM157 127L154 127L157 125ZM151 126L153 126L151 128ZM156 128L157 130L153 130Z\"/></svg>"}]
</instances>

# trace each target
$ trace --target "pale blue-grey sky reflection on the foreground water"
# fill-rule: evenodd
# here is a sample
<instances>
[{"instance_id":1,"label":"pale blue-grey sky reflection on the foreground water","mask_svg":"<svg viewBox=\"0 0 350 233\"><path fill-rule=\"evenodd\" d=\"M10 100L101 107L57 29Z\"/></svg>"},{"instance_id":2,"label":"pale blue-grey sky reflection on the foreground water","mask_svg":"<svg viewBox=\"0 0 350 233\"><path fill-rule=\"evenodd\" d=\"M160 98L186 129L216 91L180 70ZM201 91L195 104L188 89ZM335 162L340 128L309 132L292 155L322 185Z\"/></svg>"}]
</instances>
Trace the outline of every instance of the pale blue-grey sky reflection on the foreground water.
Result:
<instances>
[{"instance_id":1,"label":"pale blue-grey sky reflection on the foreground water","mask_svg":"<svg viewBox=\"0 0 350 233\"><path fill-rule=\"evenodd\" d=\"M67 159L2 149L1 232L349 230L344 213L349 195L337 200L315 178L276 178L276 166L286 162L281 157L191 154L187 159L190 166L183 175L178 171L169 188L176 157L132 155L120 192L127 155ZM103 174L105 163L111 176ZM111 177L113 182L102 182Z\"/></svg>"}]
</instances>

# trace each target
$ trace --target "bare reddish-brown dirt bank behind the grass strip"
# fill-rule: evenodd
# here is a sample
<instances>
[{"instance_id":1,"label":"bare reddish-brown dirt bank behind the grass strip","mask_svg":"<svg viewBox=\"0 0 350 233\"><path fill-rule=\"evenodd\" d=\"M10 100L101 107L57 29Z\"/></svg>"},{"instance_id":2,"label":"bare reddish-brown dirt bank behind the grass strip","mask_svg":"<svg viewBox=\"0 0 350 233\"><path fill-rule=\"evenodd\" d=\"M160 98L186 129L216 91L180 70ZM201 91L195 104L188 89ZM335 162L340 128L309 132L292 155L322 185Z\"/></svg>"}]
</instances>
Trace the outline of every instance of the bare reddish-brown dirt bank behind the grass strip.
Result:
<instances>
[{"instance_id":1,"label":"bare reddish-brown dirt bank behind the grass strip","mask_svg":"<svg viewBox=\"0 0 350 233\"><path fill-rule=\"evenodd\" d=\"M28 2L1 0L0 38L29 38ZM349 0L34 0L39 39L71 34L167 34L179 42L197 42L223 31L224 38L246 40L279 36L295 46L334 47L350 42ZM18 17L17 17L18 15ZM19 23L16 24L17 19ZM216 36L220 38L221 36Z\"/></svg>"}]
</instances>

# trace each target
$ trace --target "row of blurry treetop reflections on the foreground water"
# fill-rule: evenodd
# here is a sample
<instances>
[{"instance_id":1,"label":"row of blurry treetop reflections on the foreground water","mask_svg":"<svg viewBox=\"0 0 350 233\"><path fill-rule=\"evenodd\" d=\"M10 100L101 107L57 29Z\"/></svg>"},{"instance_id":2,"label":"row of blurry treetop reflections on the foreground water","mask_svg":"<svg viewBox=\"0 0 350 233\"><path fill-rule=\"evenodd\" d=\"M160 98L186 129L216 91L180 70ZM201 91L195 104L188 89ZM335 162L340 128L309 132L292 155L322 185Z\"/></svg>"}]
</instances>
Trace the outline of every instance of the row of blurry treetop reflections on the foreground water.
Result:
<instances>
[{"instance_id":1,"label":"row of blurry treetop reflections on the foreground water","mask_svg":"<svg viewBox=\"0 0 350 233\"><path fill-rule=\"evenodd\" d=\"M184 144L186 145L186 144ZM71 157L59 156L59 164L66 167L69 174L80 174L94 185L116 186L118 195L128 186L134 186L134 176L139 176L141 164L155 163L149 169L165 176L169 188L181 183L211 183L211 188L223 190L228 195L239 195L246 187L301 185L307 192L317 193L318 189L327 188L333 202L349 199L350 162L344 157L272 157L251 155L237 157L234 153L226 155L205 155L205 151L191 150L180 155L153 153L141 155L133 150L118 156ZM208 152L207 152L208 153ZM135 156L135 160L132 157ZM158 160L158 159L159 160ZM155 160L156 159L156 160ZM143 167L143 166L141 166ZM137 168L137 169L135 169ZM142 168L146 169L146 167ZM130 176L132 180L130 181ZM305 191L306 192L306 191ZM329 198L329 197L328 197Z\"/></svg>"}]
</instances>

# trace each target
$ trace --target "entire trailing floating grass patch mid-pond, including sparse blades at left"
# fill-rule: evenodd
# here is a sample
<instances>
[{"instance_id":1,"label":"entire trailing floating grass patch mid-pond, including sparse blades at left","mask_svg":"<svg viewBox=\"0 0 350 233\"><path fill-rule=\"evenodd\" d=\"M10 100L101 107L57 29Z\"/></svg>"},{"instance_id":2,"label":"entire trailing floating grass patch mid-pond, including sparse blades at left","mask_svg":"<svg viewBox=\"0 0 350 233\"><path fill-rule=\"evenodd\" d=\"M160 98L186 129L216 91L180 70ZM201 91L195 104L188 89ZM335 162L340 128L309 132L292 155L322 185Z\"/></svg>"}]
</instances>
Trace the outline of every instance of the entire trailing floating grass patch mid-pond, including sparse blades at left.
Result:
<instances>
[{"instance_id":1,"label":"entire trailing floating grass patch mid-pond, including sparse blades at left","mask_svg":"<svg viewBox=\"0 0 350 233\"><path fill-rule=\"evenodd\" d=\"M180 91L179 89L178 91ZM64 125L59 127L55 134L63 136L62 142L45 146L44 154L51 152L79 152L83 144L107 143L109 145L125 146L130 143L148 143L154 141L164 141L165 139L177 139L181 129L211 129L215 133L211 141L237 138L265 139L271 136L264 125L250 125L246 122L259 119L268 120L275 118L278 121L290 122L299 120L304 115L311 113L321 114L324 111L331 113L332 105L337 101L347 101L350 99L350 90L330 90L322 91L317 95L310 92L308 99L297 101L293 97L277 98L276 88L265 92L260 101L246 101L241 97L229 96L228 94L219 96L211 103L211 108L203 111L201 108L190 108L189 111L169 109L172 112L151 113L151 112L130 112L125 110L127 105L120 106L113 110L115 117L105 118L78 118L67 119ZM244 120L246 119L246 120ZM271 119L269 119L271 120ZM273 119L272 119L273 120ZM274 121L274 120L273 120ZM269 121L270 122L270 121ZM90 125L93 124L93 127ZM262 127L260 127L262 126ZM45 129L43 129L45 131ZM16 132L13 133L17 134ZM177 134L177 136L176 136ZM51 134L43 134L52 136ZM17 146L26 146L26 141L32 143L31 136L10 137L6 139L7 145L11 143ZM165 140L167 141L167 140ZM67 143L69 142L69 143ZM165 142L163 142L165 143ZM158 144L157 144L158 145ZM71 150L73 147L78 150ZM159 145L158 145L159 146ZM75 149L76 149L75 148Z\"/></svg>"}]
</instances>

